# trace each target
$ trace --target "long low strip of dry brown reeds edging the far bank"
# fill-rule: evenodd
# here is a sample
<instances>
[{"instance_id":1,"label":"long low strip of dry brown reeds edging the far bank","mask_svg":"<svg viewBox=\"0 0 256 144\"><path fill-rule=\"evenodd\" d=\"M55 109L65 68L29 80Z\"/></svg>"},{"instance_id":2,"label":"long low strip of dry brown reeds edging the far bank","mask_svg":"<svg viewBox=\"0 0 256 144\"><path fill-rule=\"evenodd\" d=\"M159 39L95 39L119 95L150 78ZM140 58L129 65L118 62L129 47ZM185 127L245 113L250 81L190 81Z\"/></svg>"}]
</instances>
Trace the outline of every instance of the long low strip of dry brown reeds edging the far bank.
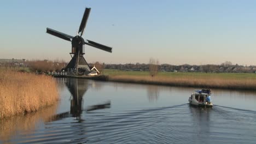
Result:
<instances>
[{"instance_id":1,"label":"long low strip of dry brown reeds edging the far bank","mask_svg":"<svg viewBox=\"0 0 256 144\"><path fill-rule=\"evenodd\" d=\"M200 88L228 88L256 90L255 79L223 79L222 77L168 77L168 76L109 76L109 81L146 83L167 86L185 86Z\"/></svg>"}]
</instances>

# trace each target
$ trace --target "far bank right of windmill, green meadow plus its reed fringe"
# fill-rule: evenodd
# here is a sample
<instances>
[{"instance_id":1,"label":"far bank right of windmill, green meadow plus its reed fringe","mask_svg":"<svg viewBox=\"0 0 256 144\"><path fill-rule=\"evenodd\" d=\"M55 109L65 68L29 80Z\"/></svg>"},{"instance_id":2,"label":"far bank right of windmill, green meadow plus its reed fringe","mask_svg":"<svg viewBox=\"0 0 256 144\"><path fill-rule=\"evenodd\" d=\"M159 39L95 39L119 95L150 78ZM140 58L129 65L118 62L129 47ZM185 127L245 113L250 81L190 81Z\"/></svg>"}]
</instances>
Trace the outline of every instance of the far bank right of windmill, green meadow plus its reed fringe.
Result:
<instances>
[{"instance_id":1,"label":"far bank right of windmill, green meadow plus its reed fringe","mask_svg":"<svg viewBox=\"0 0 256 144\"><path fill-rule=\"evenodd\" d=\"M196 88L228 88L256 90L256 74L246 73L172 73L149 76L148 71L104 70L109 81L146 83Z\"/></svg>"}]
</instances>

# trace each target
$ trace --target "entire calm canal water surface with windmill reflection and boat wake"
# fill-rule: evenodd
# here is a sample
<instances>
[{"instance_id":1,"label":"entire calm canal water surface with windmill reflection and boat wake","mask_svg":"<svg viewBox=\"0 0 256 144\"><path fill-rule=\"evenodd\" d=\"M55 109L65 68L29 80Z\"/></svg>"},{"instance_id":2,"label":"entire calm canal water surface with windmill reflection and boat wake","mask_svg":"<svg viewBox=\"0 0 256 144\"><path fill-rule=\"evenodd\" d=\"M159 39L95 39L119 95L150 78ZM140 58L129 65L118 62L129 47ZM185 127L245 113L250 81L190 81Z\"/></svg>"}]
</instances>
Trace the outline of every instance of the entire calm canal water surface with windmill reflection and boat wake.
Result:
<instances>
[{"instance_id":1,"label":"entire calm canal water surface with windmill reflection and boat wake","mask_svg":"<svg viewBox=\"0 0 256 144\"><path fill-rule=\"evenodd\" d=\"M0 121L0 143L255 143L256 92L56 79L58 104Z\"/></svg>"}]
</instances>

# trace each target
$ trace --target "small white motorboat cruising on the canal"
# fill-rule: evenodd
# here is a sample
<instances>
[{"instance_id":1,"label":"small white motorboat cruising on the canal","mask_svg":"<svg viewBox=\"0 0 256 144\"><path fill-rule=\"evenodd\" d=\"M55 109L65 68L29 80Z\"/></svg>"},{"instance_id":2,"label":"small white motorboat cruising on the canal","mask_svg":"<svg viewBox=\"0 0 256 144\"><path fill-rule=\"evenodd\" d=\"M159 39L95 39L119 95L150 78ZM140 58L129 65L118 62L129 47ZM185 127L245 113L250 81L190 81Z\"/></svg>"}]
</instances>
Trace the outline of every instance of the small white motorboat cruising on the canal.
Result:
<instances>
[{"instance_id":1,"label":"small white motorboat cruising on the canal","mask_svg":"<svg viewBox=\"0 0 256 144\"><path fill-rule=\"evenodd\" d=\"M193 106L212 107L211 89L194 90L188 101Z\"/></svg>"}]
</instances>

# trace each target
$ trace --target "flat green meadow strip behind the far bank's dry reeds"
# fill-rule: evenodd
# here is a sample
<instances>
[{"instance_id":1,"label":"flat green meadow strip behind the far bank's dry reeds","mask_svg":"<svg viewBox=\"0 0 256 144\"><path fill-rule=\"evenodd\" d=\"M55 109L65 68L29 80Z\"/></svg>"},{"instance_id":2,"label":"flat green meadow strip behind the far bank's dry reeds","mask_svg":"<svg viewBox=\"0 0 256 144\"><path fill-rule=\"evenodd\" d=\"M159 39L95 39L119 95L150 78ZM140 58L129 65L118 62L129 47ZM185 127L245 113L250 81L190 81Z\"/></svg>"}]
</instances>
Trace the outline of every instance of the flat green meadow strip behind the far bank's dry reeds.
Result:
<instances>
[{"instance_id":1,"label":"flat green meadow strip behind the far bank's dry reeds","mask_svg":"<svg viewBox=\"0 0 256 144\"><path fill-rule=\"evenodd\" d=\"M115 75L129 75L129 76L149 76L148 71L124 71L124 70L113 70L113 69L104 69L103 73L108 74L109 76ZM253 73L191 73L191 72L159 72L157 76L160 77L173 77L173 78L223 78L223 79L255 79L256 74Z\"/></svg>"}]
</instances>

